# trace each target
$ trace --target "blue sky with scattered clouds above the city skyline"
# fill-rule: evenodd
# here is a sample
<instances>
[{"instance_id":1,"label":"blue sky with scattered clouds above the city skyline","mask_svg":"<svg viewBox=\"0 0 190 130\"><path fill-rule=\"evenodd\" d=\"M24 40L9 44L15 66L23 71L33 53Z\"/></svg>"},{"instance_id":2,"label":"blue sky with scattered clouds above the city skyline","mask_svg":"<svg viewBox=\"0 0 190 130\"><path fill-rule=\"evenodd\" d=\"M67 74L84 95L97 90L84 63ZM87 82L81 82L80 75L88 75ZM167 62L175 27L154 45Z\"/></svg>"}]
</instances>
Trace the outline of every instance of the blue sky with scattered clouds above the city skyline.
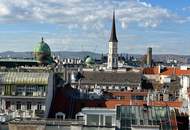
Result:
<instances>
[{"instance_id":1,"label":"blue sky with scattered clouds above the city skyline","mask_svg":"<svg viewBox=\"0 0 190 130\"><path fill-rule=\"evenodd\" d=\"M113 9L119 53L190 54L189 0L0 0L0 51L107 53Z\"/></svg>"}]
</instances>

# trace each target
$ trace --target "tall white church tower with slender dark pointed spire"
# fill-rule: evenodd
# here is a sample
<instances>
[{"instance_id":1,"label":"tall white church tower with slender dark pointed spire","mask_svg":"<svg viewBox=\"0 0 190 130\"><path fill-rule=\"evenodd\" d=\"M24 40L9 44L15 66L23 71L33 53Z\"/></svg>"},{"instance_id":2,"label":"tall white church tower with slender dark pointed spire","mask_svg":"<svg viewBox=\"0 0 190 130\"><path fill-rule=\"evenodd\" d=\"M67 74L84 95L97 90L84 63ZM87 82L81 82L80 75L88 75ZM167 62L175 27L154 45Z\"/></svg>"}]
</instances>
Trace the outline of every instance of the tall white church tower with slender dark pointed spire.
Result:
<instances>
[{"instance_id":1,"label":"tall white church tower with slender dark pointed spire","mask_svg":"<svg viewBox=\"0 0 190 130\"><path fill-rule=\"evenodd\" d=\"M108 52L108 69L117 69L118 68L118 54L117 54L118 40L116 36L116 27L115 27L115 12L113 12L113 22L111 36L109 40L109 52Z\"/></svg>"}]
</instances>

